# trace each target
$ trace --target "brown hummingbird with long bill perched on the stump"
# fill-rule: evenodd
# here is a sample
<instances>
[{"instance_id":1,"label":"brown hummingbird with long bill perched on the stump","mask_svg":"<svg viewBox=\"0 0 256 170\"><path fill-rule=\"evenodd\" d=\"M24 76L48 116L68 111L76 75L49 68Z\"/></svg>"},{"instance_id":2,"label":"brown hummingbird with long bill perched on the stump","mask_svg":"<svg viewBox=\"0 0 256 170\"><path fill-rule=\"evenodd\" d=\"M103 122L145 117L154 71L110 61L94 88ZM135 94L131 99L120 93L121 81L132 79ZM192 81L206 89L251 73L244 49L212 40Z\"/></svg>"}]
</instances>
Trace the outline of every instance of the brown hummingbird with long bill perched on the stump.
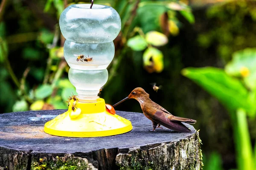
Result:
<instances>
[{"instance_id":1,"label":"brown hummingbird with long bill perched on the stump","mask_svg":"<svg viewBox=\"0 0 256 170\"><path fill-rule=\"evenodd\" d=\"M160 125L163 125L164 127L177 132L190 132L191 130L189 130L189 128L183 125L181 122L189 124L196 122L196 120L193 119L173 116L162 106L157 105L157 103L149 99L149 94L147 94L143 88L135 88L133 91L131 91L131 94L129 94L128 97L122 99L120 102L113 105L113 107L127 99L136 99L140 103L144 115L153 123L153 130L151 131L154 131L158 127L162 128Z\"/></svg>"}]
</instances>

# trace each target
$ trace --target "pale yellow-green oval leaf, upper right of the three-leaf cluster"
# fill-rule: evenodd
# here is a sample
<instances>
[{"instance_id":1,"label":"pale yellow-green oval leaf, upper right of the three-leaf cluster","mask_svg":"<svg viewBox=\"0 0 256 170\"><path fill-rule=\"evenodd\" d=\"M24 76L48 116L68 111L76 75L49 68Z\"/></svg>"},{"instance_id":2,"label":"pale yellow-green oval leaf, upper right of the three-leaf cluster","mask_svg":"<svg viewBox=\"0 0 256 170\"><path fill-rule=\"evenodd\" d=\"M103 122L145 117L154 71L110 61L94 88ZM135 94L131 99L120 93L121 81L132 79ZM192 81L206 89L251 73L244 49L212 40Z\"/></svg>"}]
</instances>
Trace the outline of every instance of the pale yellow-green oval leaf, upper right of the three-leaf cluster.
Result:
<instances>
[{"instance_id":1,"label":"pale yellow-green oval leaf, upper right of the three-leaf cluster","mask_svg":"<svg viewBox=\"0 0 256 170\"><path fill-rule=\"evenodd\" d=\"M146 42L154 46L163 46L168 42L168 38L165 34L157 31L150 31L145 35Z\"/></svg>"}]
</instances>

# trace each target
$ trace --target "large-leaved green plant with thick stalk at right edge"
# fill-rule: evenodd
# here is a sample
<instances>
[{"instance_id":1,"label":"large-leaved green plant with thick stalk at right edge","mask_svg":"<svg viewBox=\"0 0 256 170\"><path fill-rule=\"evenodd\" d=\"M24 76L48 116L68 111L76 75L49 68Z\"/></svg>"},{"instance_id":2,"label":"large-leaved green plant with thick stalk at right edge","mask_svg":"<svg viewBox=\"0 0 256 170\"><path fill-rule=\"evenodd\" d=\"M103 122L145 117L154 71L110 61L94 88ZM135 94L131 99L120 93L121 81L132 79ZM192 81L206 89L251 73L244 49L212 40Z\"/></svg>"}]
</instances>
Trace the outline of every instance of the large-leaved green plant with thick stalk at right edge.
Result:
<instances>
[{"instance_id":1,"label":"large-leaved green plant with thick stalk at right edge","mask_svg":"<svg viewBox=\"0 0 256 170\"><path fill-rule=\"evenodd\" d=\"M256 116L256 89L254 86L248 86L254 84L256 79L250 78L250 81L247 79L248 74L254 74L256 70L252 66L255 60L256 49L247 48L234 53L233 60L226 65L225 70L208 67L185 68L182 71L184 76L215 96L229 111L239 170L256 168L256 155L253 155L247 123L247 116L253 119ZM242 68L247 69L246 76L241 72Z\"/></svg>"}]
</instances>

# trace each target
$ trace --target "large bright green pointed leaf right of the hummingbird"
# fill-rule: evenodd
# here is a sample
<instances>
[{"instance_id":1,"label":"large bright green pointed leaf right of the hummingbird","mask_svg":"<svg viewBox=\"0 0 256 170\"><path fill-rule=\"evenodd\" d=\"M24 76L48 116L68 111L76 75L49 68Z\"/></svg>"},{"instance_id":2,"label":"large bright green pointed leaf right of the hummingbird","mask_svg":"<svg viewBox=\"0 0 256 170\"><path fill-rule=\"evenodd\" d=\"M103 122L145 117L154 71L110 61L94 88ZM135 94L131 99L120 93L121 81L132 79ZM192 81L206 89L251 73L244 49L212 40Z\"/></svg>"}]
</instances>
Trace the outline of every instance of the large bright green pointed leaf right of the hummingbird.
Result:
<instances>
[{"instance_id":1,"label":"large bright green pointed leaf right of the hummingbird","mask_svg":"<svg viewBox=\"0 0 256 170\"><path fill-rule=\"evenodd\" d=\"M254 103L249 99L247 89L239 79L228 76L223 69L185 68L182 74L215 96L227 110L244 108L250 113L254 111Z\"/></svg>"}]
</instances>

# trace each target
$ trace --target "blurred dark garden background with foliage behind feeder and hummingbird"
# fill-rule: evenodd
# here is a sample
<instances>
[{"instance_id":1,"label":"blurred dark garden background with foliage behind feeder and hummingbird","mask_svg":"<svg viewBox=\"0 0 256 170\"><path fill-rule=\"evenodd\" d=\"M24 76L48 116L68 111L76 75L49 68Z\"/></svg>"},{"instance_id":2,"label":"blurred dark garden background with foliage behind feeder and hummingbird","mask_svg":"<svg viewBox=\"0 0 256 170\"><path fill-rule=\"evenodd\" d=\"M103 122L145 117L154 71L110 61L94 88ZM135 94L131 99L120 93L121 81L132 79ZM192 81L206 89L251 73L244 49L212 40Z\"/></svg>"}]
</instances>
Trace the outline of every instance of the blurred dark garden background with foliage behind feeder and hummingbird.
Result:
<instances>
[{"instance_id":1,"label":"blurred dark garden background with foliage behind feeder and hummingbird","mask_svg":"<svg viewBox=\"0 0 256 170\"><path fill-rule=\"evenodd\" d=\"M0 113L67 109L76 91L68 80L58 19L74 3L89 2L1 1ZM113 105L142 87L175 116L197 120L205 170L255 170L256 2L94 3L112 6L122 20L99 96ZM162 89L155 92L152 82ZM135 100L116 110L142 112Z\"/></svg>"}]
</instances>

